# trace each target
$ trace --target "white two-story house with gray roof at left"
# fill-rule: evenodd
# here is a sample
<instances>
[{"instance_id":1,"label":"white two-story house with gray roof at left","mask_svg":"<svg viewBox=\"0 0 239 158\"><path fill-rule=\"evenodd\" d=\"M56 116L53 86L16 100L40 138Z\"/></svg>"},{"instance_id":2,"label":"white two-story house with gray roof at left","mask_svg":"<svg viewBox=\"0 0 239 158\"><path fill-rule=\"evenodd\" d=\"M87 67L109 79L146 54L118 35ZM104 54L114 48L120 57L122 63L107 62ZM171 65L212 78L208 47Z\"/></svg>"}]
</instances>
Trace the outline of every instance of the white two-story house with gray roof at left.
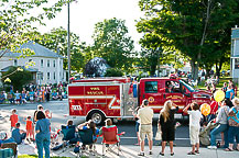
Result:
<instances>
[{"instance_id":1,"label":"white two-story house with gray roof at left","mask_svg":"<svg viewBox=\"0 0 239 158\"><path fill-rule=\"evenodd\" d=\"M25 58L18 58L21 55L20 53L6 53L0 58L0 70L9 66L26 66L26 63L33 61L35 65L30 66L30 68L37 70L35 77L36 83L45 84L66 81L66 72L63 69L63 56L33 42L23 44L20 48L30 48L35 54Z\"/></svg>"}]
</instances>

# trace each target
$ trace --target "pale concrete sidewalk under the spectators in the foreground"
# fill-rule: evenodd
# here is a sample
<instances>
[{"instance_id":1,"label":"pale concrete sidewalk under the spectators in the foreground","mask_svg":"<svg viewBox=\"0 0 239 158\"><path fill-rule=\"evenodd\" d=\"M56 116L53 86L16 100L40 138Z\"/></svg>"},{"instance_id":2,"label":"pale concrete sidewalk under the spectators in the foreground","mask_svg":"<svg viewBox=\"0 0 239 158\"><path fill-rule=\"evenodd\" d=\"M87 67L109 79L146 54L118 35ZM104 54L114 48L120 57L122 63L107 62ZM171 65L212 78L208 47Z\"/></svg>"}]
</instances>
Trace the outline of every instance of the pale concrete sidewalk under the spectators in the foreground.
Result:
<instances>
[{"instance_id":1,"label":"pale concrete sidewalk under the spectators in the foreground","mask_svg":"<svg viewBox=\"0 0 239 158\"><path fill-rule=\"evenodd\" d=\"M139 157L138 153L140 150L139 146L132 145L122 145L120 156L117 156L117 153L107 153L106 158L135 158ZM73 153L74 147L68 148L66 151L63 150L51 151L51 156L61 156L61 157L76 157L76 154ZM102 146L100 144L96 145L96 155L93 156L93 153L86 151L83 155L86 157L101 157L102 154ZM161 150L161 146L153 146L153 155L149 156L149 148L145 147L145 156L146 158L159 158L162 157L159 155ZM207 148L200 148L200 154L196 156L187 156L187 153L191 150L189 147L174 147L175 158L185 158L185 157L198 157L198 158L238 158L239 151L224 151L222 149L210 150ZM117 151L117 150L116 150ZM20 145L19 146L19 155L37 155L37 150L35 149L34 145ZM165 156L164 158L172 158L170 156L170 147L166 146Z\"/></svg>"}]
</instances>

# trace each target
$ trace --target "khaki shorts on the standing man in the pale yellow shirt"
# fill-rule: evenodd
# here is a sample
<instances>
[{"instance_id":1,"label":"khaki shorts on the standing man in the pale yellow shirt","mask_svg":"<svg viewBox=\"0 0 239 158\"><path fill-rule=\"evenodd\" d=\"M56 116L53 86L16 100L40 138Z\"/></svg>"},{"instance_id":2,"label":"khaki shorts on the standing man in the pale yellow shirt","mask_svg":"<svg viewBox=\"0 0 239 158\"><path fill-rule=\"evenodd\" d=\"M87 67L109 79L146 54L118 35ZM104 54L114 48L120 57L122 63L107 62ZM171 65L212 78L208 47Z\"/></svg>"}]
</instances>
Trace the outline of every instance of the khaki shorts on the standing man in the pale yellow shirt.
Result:
<instances>
[{"instance_id":1,"label":"khaki shorts on the standing man in the pale yellow shirt","mask_svg":"<svg viewBox=\"0 0 239 158\"><path fill-rule=\"evenodd\" d=\"M152 140L153 138L153 132L152 132L152 125L140 125L139 127L139 133L140 133L140 140L144 140L145 136L148 137L149 140Z\"/></svg>"}]
</instances>

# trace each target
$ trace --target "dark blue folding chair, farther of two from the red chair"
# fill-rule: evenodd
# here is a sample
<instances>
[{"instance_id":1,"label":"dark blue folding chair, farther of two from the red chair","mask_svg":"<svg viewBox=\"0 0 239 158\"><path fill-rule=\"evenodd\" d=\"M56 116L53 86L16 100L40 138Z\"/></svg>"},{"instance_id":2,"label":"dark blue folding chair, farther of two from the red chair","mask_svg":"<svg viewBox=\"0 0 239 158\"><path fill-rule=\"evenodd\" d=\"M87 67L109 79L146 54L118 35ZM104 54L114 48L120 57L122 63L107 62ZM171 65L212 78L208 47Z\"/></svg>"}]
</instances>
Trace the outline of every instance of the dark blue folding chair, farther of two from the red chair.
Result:
<instances>
[{"instance_id":1,"label":"dark blue folding chair, farther of two from the red chair","mask_svg":"<svg viewBox=\"0 0 239 158\"><path fill-rule=\"evenodd\" d=\"M63 133L63 151L64 147L67 147L67 144L75 144L76 142L73 142L76 136L75 136L75 125L72 126L65 126L62 125L62 133Z\"/></svg>"}]
</instances>

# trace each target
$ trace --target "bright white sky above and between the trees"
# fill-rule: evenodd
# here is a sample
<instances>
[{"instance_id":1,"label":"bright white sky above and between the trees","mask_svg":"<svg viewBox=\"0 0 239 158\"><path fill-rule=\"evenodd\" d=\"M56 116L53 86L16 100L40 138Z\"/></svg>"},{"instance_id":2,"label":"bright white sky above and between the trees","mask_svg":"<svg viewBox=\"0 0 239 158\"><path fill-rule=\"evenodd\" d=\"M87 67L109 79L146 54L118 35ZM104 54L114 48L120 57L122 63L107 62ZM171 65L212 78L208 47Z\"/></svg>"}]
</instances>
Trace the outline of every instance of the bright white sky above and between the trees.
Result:
<instances>
[{"instance_id":1,"label":"bright white sky above and between the trees","mask_svg":"<svg viewBox=\"0 0 239 158\"><path fill-rule=\"evenodd\" d=\"M93 44L91 35L97 22L105 19L126 20L129 35L134 41L135 49L140 49L139 40L142 34L137 32L135 20L143 18L138 5L139 0L77 0L70 3L70 32L79 35L82 42ZM56 18L45 21L46 26L40 26L40 32L50 32L53 27L63 26L67 30L67 7L65 5Z\"/></svg>"}]
</instances>

